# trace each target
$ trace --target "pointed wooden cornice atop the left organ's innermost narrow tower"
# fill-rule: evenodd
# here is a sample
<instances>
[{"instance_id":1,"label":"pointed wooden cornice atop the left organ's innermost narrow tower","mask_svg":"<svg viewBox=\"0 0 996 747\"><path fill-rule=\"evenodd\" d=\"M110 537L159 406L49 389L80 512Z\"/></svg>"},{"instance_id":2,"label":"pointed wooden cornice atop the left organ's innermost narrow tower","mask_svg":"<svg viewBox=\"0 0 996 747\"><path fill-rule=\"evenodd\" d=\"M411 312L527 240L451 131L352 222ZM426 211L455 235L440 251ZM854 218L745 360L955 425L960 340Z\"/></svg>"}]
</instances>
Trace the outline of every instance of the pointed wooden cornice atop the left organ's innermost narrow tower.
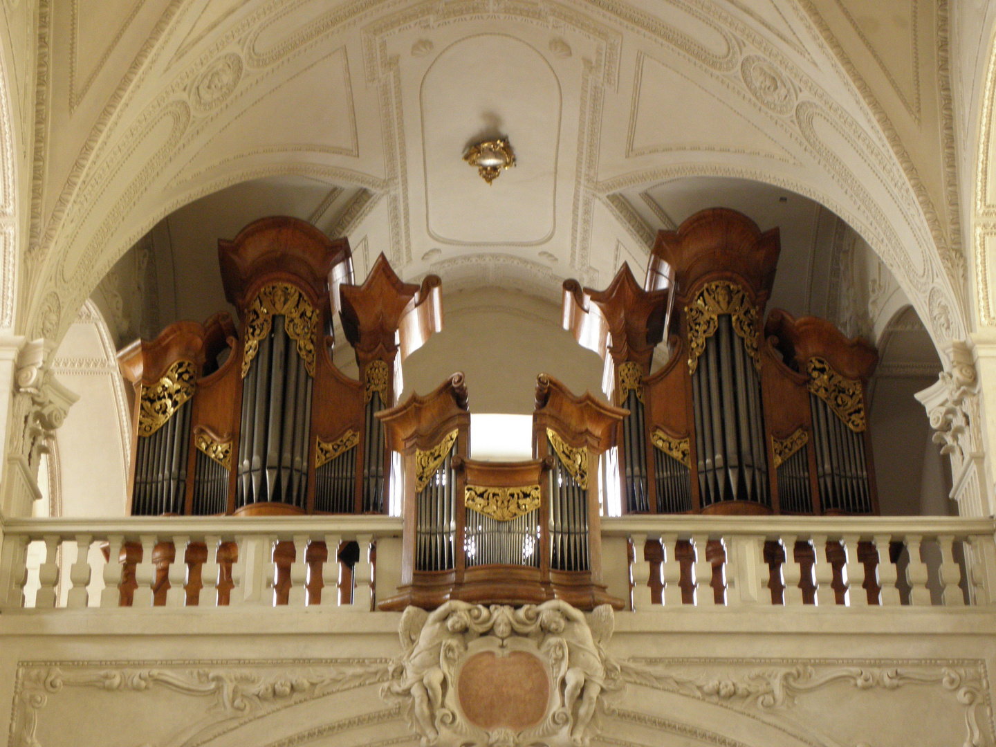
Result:
<instances>
[{"instance_id":1,"label":"pointed wooden cornice atop the left organ's innermost narrow tower","mask_svg":"<svg viewBox=\"0 0 996 747\"><path fill-rule=\"evenodd\" d=\"M363 285L340 285L343 329L357 361L362 365L374 359L390 360L398 348L404 360L440 331L441 286L436 275L425 276L421 286L402 282L383 254L376 258Z\"/></svg>"}]
</instances>

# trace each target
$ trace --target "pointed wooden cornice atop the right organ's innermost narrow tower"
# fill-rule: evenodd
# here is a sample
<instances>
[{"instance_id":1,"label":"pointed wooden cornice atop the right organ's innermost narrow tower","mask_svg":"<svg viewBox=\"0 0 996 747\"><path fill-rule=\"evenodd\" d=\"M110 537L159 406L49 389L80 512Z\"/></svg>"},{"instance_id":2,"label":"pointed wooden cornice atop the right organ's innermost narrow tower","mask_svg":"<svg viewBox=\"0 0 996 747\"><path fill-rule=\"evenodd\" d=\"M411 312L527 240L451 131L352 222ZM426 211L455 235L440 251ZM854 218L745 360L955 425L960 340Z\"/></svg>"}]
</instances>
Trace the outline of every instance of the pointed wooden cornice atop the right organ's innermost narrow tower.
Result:
<instances>
[{"instance_id":1,"label":"pointed wooden cornice atop the right organ's innermost narrow tower","mask_svg":"<svg viewBox=\"0 0 996 747\"><path fill-rule=\"evenodd\" d=\"M664 333L669 292L645 291L622 263L604 291L564 283L564 327L584 347L617 364L633 361L649 371L653 349ZM594 308L593 308L594 307Z\"/></svg>"}]
</instances>

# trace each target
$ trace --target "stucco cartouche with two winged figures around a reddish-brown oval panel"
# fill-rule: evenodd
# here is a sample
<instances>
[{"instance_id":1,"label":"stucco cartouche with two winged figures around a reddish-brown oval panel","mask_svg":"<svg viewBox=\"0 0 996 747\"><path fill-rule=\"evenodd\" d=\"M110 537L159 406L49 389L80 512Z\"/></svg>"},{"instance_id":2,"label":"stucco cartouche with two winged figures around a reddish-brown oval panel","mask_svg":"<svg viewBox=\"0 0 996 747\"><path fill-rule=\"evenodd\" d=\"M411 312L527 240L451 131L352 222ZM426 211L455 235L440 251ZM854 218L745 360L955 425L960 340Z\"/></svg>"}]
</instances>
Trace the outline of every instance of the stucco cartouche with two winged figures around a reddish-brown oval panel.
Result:
<instances>
[{"instance_id":1,"label":"stucco cartouche with two winged figures around a reddish-brown oval panel","mask_svg":"<svg viewBox=\"0 0 996 747\"><path fill-rule=\"evenodd\" d=\"M402 703L423 745L587 745L622 690L613 627L608 605L585 615L558 600L409 607L381 696Z\"/></svg>"}]
</instances>

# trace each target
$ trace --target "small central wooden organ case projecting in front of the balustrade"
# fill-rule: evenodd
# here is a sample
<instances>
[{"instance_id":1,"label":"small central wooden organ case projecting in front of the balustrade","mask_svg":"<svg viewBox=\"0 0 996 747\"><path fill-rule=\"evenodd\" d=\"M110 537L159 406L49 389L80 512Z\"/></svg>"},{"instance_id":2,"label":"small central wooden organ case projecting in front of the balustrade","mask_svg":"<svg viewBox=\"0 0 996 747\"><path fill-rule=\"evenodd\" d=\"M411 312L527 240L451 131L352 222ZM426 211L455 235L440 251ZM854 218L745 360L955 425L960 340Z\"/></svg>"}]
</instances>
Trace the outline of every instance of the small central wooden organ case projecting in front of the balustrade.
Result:
<instances>
[{"instance_id":1,"label":"small central wooden organ case projecting in front of the balustrade","mask_svg":"<svg viewBox=\"0 0 996 747\"><path fill-rule=\"evenodd\" d=\"M599 457L626 411L577 397L541 375L534 459L470 459L463 375L378 414L405 470L401 587L378 604L426 609L450 599L536 604L563 599L622 609L602 584Z\"/></svg>"}]
</instances>

